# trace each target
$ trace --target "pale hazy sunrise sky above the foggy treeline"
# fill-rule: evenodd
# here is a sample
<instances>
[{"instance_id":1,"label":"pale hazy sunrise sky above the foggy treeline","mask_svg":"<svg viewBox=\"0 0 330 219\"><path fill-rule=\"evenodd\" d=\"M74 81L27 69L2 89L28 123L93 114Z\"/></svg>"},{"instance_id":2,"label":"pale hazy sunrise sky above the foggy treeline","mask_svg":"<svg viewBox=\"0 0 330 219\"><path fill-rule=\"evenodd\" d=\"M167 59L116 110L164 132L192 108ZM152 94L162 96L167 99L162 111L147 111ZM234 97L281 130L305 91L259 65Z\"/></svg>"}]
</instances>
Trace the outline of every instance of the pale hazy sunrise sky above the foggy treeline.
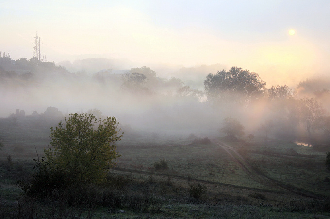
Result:
<instances>
[{"instance_id":1,"label":"pale hazy sunrise sky above the foggy treeline","mask_svg":"<svg viewBox=\"0 0 330 219\"><path fill-rule=\"evenodd\" d=\"M329 0L1 0L0 51L31 58L38 31L48 61L220 63L290 84L328 73L329 12Z\"/></svg>"}]
</instances>

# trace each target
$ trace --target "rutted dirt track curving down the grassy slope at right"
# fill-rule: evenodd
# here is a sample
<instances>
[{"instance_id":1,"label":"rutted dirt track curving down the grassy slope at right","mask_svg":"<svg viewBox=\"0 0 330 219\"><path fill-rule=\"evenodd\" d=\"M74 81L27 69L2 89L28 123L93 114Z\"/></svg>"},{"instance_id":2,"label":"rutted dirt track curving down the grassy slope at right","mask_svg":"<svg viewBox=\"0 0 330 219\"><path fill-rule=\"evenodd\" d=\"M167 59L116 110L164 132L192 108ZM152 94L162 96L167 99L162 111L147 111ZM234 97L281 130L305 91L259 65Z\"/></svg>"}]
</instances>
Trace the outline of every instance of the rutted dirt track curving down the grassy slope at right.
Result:
<instances>
[{"instance_id":1,"label":"rutted dirt track curving down the grassy slope at right","mask_svg":"<svg viewBox=\"0 0 330 219\"><path fill-rule=\"evenodd\" d=\"M280 190L280 191L284 191L284 192L291 192L291 193L295 193L298 195L302 195L305 197L310 197L310 198L317 198L314 195L311 194L304 194L301 192L297 192L294 190L291 190L283 185L281 185L280 183L276 182L273 179L268 178L265 175L262 175L260 173L258 173L257 171L255 171L252 166L237 152L236 148L231 147L229 145L227 145L226 143L219 141L219 140L215 140L214 141L218 146L222 147L232 158L232 160L234 162L236 162L241 168L242 170L254 181L270 187L272 189L276 189L276 190Z\"/></svg>"}]
</instances>

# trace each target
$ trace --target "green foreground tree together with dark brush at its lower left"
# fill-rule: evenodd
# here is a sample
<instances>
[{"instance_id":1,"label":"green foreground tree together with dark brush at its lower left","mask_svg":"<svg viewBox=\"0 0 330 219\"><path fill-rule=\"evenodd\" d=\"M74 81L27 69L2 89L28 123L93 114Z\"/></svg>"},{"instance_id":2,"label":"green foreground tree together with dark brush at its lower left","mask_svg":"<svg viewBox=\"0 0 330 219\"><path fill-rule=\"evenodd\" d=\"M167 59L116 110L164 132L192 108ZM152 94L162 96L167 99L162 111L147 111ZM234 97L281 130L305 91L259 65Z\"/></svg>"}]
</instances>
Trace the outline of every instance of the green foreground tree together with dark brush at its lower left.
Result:
<instances>
[{"instance_id":1,"label":"green foreground tree together with dark brush at its lower left","mask_svg":"<svg viewBox=\"0 0 330 219\"><path fill-rule=\"evenodd\" d=\"M120 140L115 117L97 121L92 114L70 114L65 125L51 127L51 146L45 157L33 159L35 174L17 181L27 195L47 197L71 186L106 181L109 167L119 155L114 143ZM9 160L9 159L8 159Z\"/></svg>"}]
</instances>

